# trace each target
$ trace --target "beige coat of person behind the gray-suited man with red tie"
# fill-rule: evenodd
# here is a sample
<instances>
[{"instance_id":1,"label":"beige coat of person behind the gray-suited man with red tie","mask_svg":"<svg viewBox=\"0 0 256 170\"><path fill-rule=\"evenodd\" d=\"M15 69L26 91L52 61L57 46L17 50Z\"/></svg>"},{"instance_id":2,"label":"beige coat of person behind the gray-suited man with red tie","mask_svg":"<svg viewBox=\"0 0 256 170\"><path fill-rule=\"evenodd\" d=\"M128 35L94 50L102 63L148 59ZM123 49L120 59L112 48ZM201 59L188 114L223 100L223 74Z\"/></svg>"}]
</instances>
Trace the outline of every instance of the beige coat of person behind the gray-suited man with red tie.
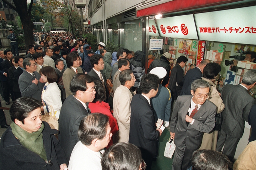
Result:
<instances>
[{"instance_id":1,"label":"beige coat of person behind the gray-suited man with red tie","mask_svg":"<svg viewBox=\"0 0 256 170\"><path fill-rule=\"evenodd\" d=\"M211 95L208 100L210 100L217 106L217 109L216 109L217 113L221 113L225 108L225 104L223 103L221 96L219 96L219 93L216 89L216 85L209 79L205 79L202 77L202 80L205 80L210 84ZM218 137L218 131L214 131L211 133L204 133L203 139L202 139L202 144L199 149L211 149L211 150L215 151L216 146L217 146L217 137Z\"/></svg>"}]
</instances>

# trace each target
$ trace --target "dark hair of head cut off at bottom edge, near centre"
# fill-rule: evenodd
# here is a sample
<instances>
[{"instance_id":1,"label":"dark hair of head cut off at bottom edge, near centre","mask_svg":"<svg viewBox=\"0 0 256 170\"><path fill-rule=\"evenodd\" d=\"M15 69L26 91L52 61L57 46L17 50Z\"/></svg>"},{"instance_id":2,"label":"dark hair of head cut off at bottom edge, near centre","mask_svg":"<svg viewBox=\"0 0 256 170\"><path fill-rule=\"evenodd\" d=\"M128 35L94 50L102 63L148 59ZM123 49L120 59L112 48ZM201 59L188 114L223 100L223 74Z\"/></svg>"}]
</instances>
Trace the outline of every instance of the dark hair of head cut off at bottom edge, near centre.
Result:
<instances>
[{"instance_id":1,"label":"dark hair of head cut off at bottom edge, near centre","mask_svg":"<svg viewBox=\"0 0 256 170\"><path fill-rule=\"evenodd\" d=\"M120 142L105 150L101 166L102 170L138 170L141 160L141 151L137 146Z\"/></svg>"}]
</instances>

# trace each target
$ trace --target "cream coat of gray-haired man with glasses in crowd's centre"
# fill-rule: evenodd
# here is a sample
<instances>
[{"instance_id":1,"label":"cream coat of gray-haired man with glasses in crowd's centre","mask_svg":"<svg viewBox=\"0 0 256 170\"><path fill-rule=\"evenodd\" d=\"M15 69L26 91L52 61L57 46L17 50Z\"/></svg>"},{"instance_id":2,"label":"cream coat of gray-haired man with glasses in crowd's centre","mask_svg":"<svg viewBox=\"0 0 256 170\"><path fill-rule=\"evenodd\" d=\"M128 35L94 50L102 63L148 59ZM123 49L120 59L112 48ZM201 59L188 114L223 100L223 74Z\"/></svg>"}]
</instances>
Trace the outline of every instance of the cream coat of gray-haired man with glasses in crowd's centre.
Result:
<instances>
[{"instance_id":1,"label":"cream coat of gray-haired man with glasses in crowd's centre","mask_svg":"<svg viewBox=\"0 0 256 170\"><path fill-rule=\"evenodd\" d=\"M114 94L114 118L116 118L119 131L113 136L113 142L128 142L130 133L131 118L131 99L130 90L120 85Z\"/></svg>"}]
</instances>

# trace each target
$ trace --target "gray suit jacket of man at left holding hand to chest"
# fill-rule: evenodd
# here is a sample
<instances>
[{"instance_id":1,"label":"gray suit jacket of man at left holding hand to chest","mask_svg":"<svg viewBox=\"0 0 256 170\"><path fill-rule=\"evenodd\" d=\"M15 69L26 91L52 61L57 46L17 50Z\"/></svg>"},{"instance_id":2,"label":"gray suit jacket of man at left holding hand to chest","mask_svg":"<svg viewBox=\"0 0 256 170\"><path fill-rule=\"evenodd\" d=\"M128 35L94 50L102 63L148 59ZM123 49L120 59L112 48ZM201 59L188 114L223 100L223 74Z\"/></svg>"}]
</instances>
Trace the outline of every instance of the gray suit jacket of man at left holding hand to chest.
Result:
<instances>
[{"instance_id":1,"label":"gray suit jacket of man at left holding hand to chest","mask_svg":"<svg viewBox=\"0 0 256 170\"><path fill-rule=\"evenodd\" d=\"M41 95L44 87L44 83L40 83L40 74L37 71L33 72L35 77L29 74L26 70L19 76L19 89L22 97L32 97L39 101L42 101ZM32 83L37 78L38 84Z\"/></svg>"}]
</instances>

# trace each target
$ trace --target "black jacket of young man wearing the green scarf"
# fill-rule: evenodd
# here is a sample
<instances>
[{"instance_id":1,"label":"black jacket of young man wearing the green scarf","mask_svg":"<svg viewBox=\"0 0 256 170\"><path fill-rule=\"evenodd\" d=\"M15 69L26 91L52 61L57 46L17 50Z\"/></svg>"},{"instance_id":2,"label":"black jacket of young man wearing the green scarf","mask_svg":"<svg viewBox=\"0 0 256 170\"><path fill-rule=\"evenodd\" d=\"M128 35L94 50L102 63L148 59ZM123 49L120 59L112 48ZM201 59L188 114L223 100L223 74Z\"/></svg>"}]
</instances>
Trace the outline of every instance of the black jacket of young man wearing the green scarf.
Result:
<instances>
[{"instance_id":1,"label":"black jacket of young man wearing the green scarf","mask_svg":"<svg viewBox=\"0 0 256 170\"><path fill-rule=\"evenodd\" d=\"M47 122L44 123L43 143L49 165L38 154L23 147L19 140L12 133L9 127L3 134L0 144L0 167L6 170L56 170L61 164L68 164L65 154L60 147L60 142L54 136L57 130L50 128Z\"/></svg>"}]
</instances>

